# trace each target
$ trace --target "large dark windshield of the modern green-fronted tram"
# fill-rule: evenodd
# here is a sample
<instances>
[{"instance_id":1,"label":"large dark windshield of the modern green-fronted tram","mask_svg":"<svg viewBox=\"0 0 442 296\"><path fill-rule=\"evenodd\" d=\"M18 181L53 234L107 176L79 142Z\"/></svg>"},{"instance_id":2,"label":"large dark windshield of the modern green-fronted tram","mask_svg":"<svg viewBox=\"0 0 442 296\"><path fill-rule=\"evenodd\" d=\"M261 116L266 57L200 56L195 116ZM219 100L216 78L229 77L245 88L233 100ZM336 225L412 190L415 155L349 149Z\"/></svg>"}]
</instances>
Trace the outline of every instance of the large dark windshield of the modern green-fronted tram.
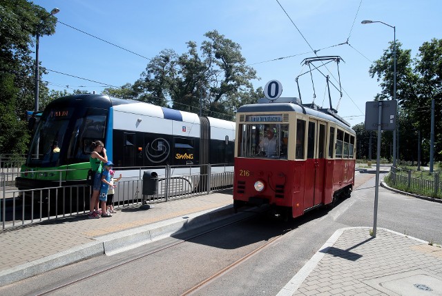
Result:
<instances>
[{"instance_id":1,"label":"large dark windshield of the modern green-fronted tram","mask_svg":"<svg viewBox=\"0 0 442 296\"><path fill-rule=\"evenodd\" d=\"M53 108L46 111L32 138L26 165L49 168L89 161L91 142L104 141L107 110Z\"/></svg>"}]
</instances>

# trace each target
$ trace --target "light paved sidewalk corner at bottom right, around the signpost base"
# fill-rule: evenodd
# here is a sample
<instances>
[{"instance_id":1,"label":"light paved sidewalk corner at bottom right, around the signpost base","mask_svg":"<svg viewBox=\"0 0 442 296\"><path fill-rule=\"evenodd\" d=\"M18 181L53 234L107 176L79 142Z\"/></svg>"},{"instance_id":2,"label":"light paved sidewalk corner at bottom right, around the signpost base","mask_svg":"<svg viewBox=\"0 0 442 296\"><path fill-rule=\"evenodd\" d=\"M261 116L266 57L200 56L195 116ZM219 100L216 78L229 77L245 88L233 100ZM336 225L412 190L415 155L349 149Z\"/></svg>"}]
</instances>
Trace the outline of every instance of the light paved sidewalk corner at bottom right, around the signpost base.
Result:
<instances>
[{"instance_id":1,"label":"light paved sidewalk corner at bottom right, around the signpost base","mask_svg":"<svg viewBox=\"0 0 442 296\"><path fill-rule=\"evenodd\" d=\"M283 295L442 295L442 248L392 230L341 228Z\"/></svg>"}]
</instances>

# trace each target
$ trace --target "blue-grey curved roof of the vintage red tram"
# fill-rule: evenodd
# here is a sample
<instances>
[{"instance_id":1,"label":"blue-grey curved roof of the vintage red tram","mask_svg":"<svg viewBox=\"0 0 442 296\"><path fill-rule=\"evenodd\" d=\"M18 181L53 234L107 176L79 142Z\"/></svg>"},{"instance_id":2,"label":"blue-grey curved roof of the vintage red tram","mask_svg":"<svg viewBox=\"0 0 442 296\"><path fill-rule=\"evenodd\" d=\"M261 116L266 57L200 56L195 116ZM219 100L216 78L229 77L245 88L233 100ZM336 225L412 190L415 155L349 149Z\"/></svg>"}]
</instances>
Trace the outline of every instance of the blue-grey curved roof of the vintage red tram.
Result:
<instances>
[{"instance_id":1,"label":"blue-grey curved roof of the vintage red tram","mask_svg":"<svg viewBox=\"0 0 442 296\"><path fill-rule=\"evenodd\" d=\"M332 121L345 130L354 133L350 124L337 115L333 110L314 109L298 103L254 103L238 108L237 113L258 113L258 112L299 112L305 115L318 117L326 121Z\"/></svg>"}]
</instances>

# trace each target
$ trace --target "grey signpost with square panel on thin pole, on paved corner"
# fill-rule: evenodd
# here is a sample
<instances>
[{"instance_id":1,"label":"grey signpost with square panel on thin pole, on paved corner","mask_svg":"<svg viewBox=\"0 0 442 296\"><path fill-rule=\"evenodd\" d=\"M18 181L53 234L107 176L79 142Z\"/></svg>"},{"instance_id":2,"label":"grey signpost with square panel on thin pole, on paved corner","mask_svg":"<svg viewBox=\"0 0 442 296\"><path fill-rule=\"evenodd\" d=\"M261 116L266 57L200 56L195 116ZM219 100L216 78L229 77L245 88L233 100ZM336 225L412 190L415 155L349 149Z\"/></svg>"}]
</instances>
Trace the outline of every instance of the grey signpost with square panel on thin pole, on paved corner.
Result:
<instances>
[{"instance_id":1,"label":"grey signpost with square panel on thin pole, on paved corner","mask_svg":"<svg viewBox=\"0 0 442 296\"><path fill-rule=\"evenodd\" d=\"M378 220L379 165L381 163L381 130L396 128L397 101L367 101L365 103L365 130L378 131L376 149L376 187L374 190L373 237L376 237Z\"/></svg>"}]
</instances>

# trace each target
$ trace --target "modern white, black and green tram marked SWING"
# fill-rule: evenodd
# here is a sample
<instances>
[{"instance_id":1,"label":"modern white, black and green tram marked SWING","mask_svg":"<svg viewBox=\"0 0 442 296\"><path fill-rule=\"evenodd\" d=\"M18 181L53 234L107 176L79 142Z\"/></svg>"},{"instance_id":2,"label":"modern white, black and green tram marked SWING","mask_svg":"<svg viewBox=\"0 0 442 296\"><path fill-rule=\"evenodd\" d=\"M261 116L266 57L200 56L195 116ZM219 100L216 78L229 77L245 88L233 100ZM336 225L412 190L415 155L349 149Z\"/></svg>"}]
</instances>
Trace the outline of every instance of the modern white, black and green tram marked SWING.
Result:
<instances>
[{"instance_id":1,"label":"modern white, black and green tram marked SWING","mask_svg":"<svg viewBox=\"0 0 442 296\"><path fill-rule=\"evenodd\" d=\"M174 174L189 168L201 172L206 164L233 170L234 137L231 121L106 95L61 97L48 104L35 126L16 186L86 184L90 144L97 140L124 180L140 179L141 168L166 165Z\"/></svg>"}]
</instances>

